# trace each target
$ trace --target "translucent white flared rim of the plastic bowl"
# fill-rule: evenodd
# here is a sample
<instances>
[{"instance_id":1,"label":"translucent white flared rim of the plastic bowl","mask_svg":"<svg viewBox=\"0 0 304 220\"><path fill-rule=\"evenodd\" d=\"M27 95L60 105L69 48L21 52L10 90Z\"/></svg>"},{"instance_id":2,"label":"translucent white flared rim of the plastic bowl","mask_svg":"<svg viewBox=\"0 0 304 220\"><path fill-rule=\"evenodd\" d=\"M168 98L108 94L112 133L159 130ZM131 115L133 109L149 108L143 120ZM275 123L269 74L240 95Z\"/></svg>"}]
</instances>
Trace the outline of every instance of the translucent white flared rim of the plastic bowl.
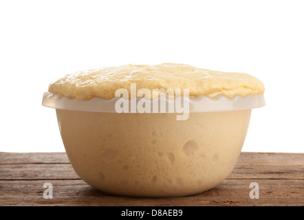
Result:
<instances>
[{"instance_id":1,"label":"translucent white flared rim of the plastic bowl","mask_svg":"<svg viewBox=\"0 0 304 220\"><path fill-rule=\"evenodd\" d=\"M105 112L105 113L119 113L116 111L116 102L124 99L114 97L109 100L94 97L89 100L79 100L76 98L67 98L66 96L59 96L58 94L52 94L51 92L45 92L43 94L42 105L44 107L50 107L54 109L72 110L72 111L93 111L93 112ZM136 106L139 102L142 103L144 98L132 98L120 100L120 102L127 103L129 107L128 113L180 113L176 108L169 109L169 104L180 102L181 105L188 103L188 112L213 112L213 111L239 111L246 109L255 109L265 106L265 98L263 94L256 94L254 96L247 95L245 97L233 96L227 98L226 96L216 96L215 98L208 98L207 96L197 96L195 98L188 98L184 96L175 98L159 97L153 100L144 99L144 102L150 102L151 111L142 112L138 108L131 111L131 104L135 103ZM158 102L158 104L156 104ZM161 102L166 103L166 109L160 109ZM153 105L158 105L158 111L153 111ZM156 106L155 105L155 106ZM161 111L162 110L162 111Z\"/></svg>"}]
</instances>

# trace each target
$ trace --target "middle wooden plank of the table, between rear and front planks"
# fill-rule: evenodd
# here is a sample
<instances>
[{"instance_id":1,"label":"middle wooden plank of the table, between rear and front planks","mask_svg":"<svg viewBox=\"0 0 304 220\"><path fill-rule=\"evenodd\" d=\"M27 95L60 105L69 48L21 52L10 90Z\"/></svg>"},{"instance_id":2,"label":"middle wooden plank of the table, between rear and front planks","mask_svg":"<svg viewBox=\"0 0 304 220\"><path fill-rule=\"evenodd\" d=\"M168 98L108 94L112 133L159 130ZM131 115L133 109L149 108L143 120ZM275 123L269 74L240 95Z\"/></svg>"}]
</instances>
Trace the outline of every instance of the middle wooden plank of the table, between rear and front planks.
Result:
<instances>
[{"instance_id":1,"label":"middle wooden plank of the table, between rear and front planks","mask_svg":"<svg viewBox=\"0 0 304 220\"><path fill-rule=\"evenodd\" d=\"M255 166L232 170L227 179L304 179L303 166ZM0 179L79 179L71 164L0 164Z\"/></svg>"}]
</instances>

